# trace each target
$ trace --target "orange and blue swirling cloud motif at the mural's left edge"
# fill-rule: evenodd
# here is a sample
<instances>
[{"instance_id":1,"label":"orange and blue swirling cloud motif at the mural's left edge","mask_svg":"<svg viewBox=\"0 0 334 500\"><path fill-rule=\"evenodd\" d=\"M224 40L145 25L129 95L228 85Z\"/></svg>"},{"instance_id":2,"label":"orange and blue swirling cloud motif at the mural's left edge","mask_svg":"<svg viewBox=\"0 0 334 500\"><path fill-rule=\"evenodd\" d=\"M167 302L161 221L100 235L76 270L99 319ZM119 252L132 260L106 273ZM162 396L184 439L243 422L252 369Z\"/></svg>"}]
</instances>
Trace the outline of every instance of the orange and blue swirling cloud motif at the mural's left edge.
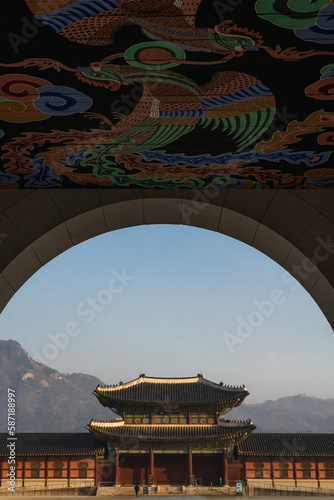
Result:
<instances>
[{"instance_id":1,"label":"orange and blue swirling cloud motif at the mural's left edge","mask_svg":"<svg viewBox=\"0 0 334 500\"><path fill-rule=\"evenodd\" d=\"M53 86L29 75L0 77L0 119L10 123L41 121L87 111L92 100L70 87Z\"/></svg>"}]
</instances>

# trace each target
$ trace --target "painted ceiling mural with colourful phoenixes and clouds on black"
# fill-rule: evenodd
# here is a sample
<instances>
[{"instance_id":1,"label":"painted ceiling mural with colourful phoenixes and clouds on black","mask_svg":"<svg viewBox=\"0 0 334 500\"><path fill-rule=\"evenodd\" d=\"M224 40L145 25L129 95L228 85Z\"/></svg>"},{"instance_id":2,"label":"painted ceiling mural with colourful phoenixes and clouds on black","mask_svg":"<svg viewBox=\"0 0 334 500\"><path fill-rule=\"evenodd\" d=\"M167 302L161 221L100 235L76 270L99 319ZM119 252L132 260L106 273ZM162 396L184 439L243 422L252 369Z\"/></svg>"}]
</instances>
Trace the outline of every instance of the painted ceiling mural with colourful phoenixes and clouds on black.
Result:
<instances>
[{"instance_id":1,"label":"painted ceiling mural with colourful phoenixes and clouds on black","mask_svg":"<svg viewBox=\"0 0 334 500\"><path fill-rule=\"evenodd\" d=\"M334 187L334 0L15 0L0 187Z\"/></svg>"}]
</instances>

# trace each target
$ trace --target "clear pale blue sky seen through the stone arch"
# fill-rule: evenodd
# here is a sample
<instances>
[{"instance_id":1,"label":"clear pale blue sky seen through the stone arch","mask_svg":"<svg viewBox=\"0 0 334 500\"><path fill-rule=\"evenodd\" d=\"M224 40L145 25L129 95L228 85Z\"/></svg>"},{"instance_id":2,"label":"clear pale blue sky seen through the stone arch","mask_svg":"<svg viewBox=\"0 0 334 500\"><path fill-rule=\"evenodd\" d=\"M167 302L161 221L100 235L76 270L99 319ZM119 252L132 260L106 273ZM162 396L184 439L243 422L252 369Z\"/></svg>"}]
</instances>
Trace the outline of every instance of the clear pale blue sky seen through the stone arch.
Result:
<instances>
[{"instance_id":1,"label":"clear pale blue sky seen through the stone arch","mask_svg":"<svg viewBox=\"0 0 334 500\"><path fill-rule=\"evenodd\" d=\"M0 331L107 384L202 372L245 384L248 403L334 397L334 334L313 299L265 255L203 229L127 228L68 250L16 293Z\"/></svg>"}]
</instances>

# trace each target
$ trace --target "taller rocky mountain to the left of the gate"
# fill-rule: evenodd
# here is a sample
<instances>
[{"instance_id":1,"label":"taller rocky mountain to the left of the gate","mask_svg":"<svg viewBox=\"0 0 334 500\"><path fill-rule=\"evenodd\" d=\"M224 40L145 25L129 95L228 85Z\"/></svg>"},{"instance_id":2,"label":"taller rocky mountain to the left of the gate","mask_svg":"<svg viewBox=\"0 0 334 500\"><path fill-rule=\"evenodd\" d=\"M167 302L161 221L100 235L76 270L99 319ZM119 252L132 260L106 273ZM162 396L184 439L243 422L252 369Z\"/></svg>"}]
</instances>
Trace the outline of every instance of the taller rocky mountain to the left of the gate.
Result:
<instances>
[{"instance_id":1,"label":"taller rocky mountain to the left of the gate","mask_svg":"<svg viewBox=\"0 0 334 500\"><path fill-rule=\"evenodd\" d=\"M14 340L0 341L0 379L0 432L7 431L7 388L16 391L16 432L85 432L92 417L115 417L92 394L98 378L59 373Z\"/></svg>"}]
</instances>

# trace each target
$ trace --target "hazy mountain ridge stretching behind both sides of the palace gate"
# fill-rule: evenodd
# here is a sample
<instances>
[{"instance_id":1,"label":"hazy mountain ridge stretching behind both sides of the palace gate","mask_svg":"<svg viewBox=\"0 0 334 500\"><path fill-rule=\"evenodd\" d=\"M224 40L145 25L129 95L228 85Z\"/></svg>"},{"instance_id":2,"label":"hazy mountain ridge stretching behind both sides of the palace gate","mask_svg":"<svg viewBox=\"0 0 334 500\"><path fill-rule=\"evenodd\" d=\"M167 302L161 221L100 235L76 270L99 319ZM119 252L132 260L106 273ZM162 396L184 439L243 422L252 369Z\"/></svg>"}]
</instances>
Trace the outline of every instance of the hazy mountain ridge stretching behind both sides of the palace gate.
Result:
<instances>
[{"instance_id":1,"label":"hazy mountain ridge stretching behind both sides of the palace gate","mask_svg":"<svg viewBox=\"0 0 334 500\"><path fill-rule=\"evenodd\" d=\"M14 340L0 341L0 375L0 432L7 430L7 388L16 391L16 432L84 432L92 417L115 417L92 394L103 383L97 377L59 373L34 361ZM334 399L300 394L243 403L226 418L250 418L255 432L334 433Z\"/></svg>"}]
</instances>

